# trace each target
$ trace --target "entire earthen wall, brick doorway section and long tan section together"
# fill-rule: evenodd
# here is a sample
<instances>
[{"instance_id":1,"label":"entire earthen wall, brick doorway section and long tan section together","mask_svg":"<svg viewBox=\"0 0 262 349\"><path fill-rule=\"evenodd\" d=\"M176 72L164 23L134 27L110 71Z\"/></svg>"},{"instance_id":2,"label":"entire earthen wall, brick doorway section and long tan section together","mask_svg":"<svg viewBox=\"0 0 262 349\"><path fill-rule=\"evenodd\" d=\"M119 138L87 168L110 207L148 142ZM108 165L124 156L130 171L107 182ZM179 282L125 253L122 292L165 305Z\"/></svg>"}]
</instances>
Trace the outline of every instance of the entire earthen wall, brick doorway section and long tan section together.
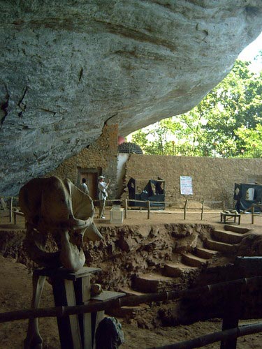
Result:
<instances>
[{"instance_id":1,"label":"entire earthen wall, brick doorway section and long tan section together","mask_svg":"<svg viewBox=\"0 0 262 349\"><path fill-rule=\"evenodd\" d=\"M94 170L111 179L109 198L126 198L126 184L133 177L140 193L149 179L165 180L166 200L182 200L180 176L190 176L193 182L193 200L224 200L226 208L233 207L234 184L262 184L262 159L201 158L117 153L117 125L103 128L100 138L80 154L66 159L48 174L69 178L80 184L80 172ZM122 189L124 186L124 193ZM93 199L96 199L92 197Z\"/></svg>"}]
</instances>

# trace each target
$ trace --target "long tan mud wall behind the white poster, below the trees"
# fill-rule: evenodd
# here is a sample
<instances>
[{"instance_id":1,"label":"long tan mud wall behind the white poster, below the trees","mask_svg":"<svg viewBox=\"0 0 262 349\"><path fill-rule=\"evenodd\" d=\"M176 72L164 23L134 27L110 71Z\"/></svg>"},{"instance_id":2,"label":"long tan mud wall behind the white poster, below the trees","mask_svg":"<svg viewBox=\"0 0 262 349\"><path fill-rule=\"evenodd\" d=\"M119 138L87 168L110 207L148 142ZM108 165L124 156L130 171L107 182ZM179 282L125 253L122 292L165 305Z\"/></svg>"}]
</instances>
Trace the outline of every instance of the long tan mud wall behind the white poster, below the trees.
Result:
<instances>
[{"instance_id":1,"label":"long tan mud wall behind the white poster, below the trees","mask_svg":"<svg viewBox=\"0 0 262 349\"><path fill-rule=\"evenodd\" d=\"M141 190L149 179L161 177L165 180L167 201L184 198L180 194L180 176L192 177L193 200L224 200L226 208L233 208L235 182L262 183L262 159L131 154L126 163L126 184L133 177Z\"/></svg>"}]
</instances>

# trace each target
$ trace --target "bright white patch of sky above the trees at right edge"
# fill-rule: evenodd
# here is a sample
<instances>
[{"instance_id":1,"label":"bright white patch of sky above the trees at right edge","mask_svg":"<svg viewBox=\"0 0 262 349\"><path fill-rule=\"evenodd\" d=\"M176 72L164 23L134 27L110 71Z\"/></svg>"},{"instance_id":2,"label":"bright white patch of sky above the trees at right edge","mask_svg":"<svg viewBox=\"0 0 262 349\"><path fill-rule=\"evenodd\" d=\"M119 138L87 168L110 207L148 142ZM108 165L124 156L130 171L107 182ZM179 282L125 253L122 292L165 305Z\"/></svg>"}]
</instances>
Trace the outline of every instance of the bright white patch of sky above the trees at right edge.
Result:
<instances>
[{"instance_id":1,"label":"bright white patch of sky above the trees at right edge","mask_svg":"<svg viewBox=\"0 0 262 349\"><path fill-rule=\"evenodd\" d=\"M249 66L250 70L252 70L254 73L262 71L262 57L260 57L258 60L254 60L257 54L259 54L259 51L262 51L262 32L261 34L254 40L252 43L250 43L238 56L238 59L241 59L241 61L251 61L252 64Z\"/></svg>"}]
</instances>

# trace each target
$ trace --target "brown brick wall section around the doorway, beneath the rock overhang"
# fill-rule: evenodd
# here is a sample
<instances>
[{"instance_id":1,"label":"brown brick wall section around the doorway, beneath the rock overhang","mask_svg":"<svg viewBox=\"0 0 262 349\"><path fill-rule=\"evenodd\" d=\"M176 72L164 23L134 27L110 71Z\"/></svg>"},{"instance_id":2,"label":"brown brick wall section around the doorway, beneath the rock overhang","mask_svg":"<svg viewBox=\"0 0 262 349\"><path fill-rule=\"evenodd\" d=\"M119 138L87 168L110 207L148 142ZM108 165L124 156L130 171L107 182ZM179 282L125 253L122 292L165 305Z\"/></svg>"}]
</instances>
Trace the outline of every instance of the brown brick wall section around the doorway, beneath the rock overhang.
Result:
<instances>
[{"instance_id":1,"label":"brown brick wall section around the doorway, beneath the rock overhang","mask_svg":"<svg viewBox=\"0 0 262 349\"><path fill-rule=\"evenodd\" d=\"M47 177L69 178L73 184L78 186L81 172L96 172L96 177L103 174L106 177L105 181L111 179L108 193L110 198L115 198L117 191L117 138L118 126L105 125L102 135L96 142L82 149L78 155L66 159Z\"/></svg>"}]
</instances>

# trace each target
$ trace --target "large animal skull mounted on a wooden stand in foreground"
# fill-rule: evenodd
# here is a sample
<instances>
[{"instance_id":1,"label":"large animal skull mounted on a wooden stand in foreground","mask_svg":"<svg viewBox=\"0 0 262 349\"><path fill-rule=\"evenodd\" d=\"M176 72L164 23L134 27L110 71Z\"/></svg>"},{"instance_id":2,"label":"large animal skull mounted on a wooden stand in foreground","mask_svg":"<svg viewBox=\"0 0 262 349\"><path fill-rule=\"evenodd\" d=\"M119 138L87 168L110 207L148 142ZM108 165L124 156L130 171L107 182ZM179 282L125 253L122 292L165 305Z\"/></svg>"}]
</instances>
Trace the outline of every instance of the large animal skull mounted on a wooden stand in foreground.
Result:
<instances>
[{"instance_id":1,"label":"large animal skull mounted on a wooden stand in foreground","mask_svg":"<svg viewBox=\"0 0 262 349\"><path fill-rule=\"evenodd\" d=\"M30 258L42 267L62 265L76 272L85 264L84 234L93 242L103 239L94 225L92 198L69 179L31 179L21 188L19 202L27 222L25 246ZM43 236L47 233L59 237L60 251L45 251Z\"/></svg>"}]
</instances>

